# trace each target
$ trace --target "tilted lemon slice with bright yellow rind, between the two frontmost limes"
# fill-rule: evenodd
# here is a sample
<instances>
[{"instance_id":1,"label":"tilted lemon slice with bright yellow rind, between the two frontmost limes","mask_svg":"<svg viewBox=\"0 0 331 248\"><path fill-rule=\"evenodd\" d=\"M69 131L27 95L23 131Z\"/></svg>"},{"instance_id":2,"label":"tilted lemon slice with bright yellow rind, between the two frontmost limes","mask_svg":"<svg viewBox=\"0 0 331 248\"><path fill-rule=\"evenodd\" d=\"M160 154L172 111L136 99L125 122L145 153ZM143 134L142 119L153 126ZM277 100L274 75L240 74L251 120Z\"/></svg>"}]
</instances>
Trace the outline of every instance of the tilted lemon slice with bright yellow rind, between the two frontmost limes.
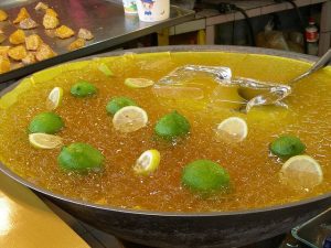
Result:
<instances>
[{"instance_id":1,"label":"tilted lemon slice with bright yellow rind, between the two frontmost limes","mask_svg":"<svg viewBox=\"0 0 331 248\"><path fill-rule=\"evenodd\" d=\"M137 174L149 175L158 169L159 164L160 152L158 150L148 150L136 161L134 170Z\"/></svg>"}]
</instances>

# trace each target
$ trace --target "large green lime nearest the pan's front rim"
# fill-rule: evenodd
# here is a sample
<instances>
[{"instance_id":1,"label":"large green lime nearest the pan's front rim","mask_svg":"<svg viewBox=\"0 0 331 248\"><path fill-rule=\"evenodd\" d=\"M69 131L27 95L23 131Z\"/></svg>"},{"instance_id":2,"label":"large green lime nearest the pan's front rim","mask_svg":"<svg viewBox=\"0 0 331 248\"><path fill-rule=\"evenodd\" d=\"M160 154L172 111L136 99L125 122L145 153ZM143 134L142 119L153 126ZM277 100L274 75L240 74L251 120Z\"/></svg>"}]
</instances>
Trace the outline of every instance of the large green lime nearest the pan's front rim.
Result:
<instances>
[{"instance_id":1,"label":"large green lime nearest the pan's front rim","mask_svg":"<svg viewBox=\"0 0 331 248\"><path fill-rule=\"evenodd\" d=\"M229 175L220 164L210 160L189 163L182 173L182 184L193 192L211 194L229 187Z\"/></svg>"}]
</instances>

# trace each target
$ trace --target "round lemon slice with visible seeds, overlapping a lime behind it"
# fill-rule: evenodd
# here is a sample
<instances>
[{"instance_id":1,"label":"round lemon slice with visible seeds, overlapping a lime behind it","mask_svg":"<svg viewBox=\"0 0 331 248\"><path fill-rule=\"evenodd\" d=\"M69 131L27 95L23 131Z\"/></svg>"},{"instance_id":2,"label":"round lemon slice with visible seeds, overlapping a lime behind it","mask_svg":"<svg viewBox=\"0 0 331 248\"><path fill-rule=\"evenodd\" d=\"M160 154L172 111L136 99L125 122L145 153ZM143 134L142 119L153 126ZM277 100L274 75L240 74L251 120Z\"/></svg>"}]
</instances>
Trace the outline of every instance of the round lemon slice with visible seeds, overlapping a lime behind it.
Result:
<instances>
[{"instance_id":1,"label":"round lemon slice with visible seeds, overlapping a lime behind it","mask_svg":"<svg viewBox=\"0 0 331 248\"><path fill-rule=\"evenodd\" d=\"M143 128L148 122L147 112L137 106L119 109L113 118L114 128L120 132L134 132Z\"/></svg>"}]
</instances>

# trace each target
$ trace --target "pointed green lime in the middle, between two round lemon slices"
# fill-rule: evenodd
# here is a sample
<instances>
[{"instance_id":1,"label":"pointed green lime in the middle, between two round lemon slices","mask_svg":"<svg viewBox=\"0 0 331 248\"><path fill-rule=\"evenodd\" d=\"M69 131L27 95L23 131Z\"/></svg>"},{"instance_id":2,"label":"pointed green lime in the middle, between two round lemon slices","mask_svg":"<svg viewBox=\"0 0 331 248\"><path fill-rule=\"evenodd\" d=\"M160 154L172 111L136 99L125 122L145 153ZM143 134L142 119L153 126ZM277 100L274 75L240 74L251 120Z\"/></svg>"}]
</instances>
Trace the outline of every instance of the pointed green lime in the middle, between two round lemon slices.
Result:
<instances>
[{"instance_id":1,"label":"pointed green lime in the middle, between two round lemon slices","mask_svg":"<svg viewBox=\"0 0 331 248\"><path fill-rule=\"evenodd\" d=\"M163 139L185 136L190 131L190 122L178 111L163 116L156 125L156 133Z\"/></svg>"}]
</instances>

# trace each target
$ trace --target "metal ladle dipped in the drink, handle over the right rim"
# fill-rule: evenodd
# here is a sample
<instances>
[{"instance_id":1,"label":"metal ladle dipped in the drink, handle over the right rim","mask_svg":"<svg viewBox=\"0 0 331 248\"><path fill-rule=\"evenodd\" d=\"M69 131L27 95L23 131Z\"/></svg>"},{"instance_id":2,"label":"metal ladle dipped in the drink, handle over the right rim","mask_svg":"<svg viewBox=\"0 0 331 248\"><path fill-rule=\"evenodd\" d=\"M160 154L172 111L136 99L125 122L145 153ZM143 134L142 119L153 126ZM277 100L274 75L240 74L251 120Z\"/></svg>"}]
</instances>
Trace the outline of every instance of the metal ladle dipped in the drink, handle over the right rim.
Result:
<instances>
[{"instance_id":1,"label":"metal ladle dipped in the drink, handle over the right rim","mask_svg":"<svg viewBox=\"0 0 331 248\"><path fill-rule=\"evenodd\" d=\"M312 73L319 71L320 68L325 67L331 61L331 48L321 57L319 58L306 73L297 76L296 78L288 82L288 84L281 85L281 86L274 86L270 88L269 91L254 96L250 99L247 99L248 103L246 104L246 107L243 109L245 112L248 112L253 107L256 106L263 106L263 105L282 105L285 104L280 103L284 98L289 96L292 91L292 86L295 83L299 82L300 79L311 75ZM239 91L239 95L244 98L245 91ZM249 94L246 94L246 96Z\"/></svg>"}]
</instances>

